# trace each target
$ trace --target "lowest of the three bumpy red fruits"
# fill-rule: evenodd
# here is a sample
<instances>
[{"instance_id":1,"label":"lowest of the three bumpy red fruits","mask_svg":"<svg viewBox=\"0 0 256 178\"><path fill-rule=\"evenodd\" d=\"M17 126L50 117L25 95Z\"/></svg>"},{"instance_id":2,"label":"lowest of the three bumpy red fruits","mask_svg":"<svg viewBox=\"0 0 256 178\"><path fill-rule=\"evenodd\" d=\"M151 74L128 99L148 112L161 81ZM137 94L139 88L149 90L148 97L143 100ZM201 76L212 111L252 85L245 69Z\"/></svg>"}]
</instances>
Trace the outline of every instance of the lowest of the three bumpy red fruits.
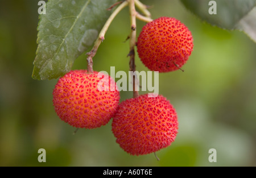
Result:
<instances>
[{"instance_id":1,"label":"lowest of the three bumpy red fruits","mask_svg":"<svg viewBox=\"0 0 256 178\"><path fill-rule=\"evenodd\" d=\"M112 122L116 142L131 155L150 154L170 146L177 129L177 114L170 102L148 94L121 102Z\"/></svg>"}]
</instances>

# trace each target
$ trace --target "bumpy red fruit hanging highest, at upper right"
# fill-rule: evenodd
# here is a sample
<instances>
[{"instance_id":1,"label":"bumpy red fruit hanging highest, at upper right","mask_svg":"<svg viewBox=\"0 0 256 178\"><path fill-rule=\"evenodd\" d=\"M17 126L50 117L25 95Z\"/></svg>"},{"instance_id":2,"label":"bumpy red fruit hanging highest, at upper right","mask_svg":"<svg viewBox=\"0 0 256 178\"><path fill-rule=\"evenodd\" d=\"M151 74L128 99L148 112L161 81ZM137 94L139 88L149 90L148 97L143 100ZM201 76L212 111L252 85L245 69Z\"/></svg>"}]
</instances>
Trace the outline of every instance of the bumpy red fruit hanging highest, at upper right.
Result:
<instances>
[{"instance_id":1,"label":"bumpy red fruit hanging highest, at upper right","mask_svg":"<svg viewBox=\"0 0 256 178\"><path fill-rule=\"evenodd\" d=\"M137 51L142 63L151 71L176 71L191 55L193 37L179 20L161 17L142 28Z\"/></svg>"}]
</instances>

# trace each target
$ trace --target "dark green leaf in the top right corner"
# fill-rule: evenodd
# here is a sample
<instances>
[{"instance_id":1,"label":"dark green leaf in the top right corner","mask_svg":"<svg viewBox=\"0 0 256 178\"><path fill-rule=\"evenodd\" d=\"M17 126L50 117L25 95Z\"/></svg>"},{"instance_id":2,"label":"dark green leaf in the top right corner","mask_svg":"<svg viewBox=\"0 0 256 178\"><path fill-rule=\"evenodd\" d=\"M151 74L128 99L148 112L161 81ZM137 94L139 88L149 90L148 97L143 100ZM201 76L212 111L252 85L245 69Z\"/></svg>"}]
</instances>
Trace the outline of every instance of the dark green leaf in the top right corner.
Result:
<instances>
[{"instance_id":1,"label":"dark green leaf in the top right corner","mask_svg":"<svg viewBox=\"0 0 256 178\"><path fill-rule=\"evenodd\" d=\"M209 13L209 9L213 7L210 0L181 2L188 10L213 26L244 31L256 42L256 0L215 0L217 14Z\"/></svg>"}]
</instances>

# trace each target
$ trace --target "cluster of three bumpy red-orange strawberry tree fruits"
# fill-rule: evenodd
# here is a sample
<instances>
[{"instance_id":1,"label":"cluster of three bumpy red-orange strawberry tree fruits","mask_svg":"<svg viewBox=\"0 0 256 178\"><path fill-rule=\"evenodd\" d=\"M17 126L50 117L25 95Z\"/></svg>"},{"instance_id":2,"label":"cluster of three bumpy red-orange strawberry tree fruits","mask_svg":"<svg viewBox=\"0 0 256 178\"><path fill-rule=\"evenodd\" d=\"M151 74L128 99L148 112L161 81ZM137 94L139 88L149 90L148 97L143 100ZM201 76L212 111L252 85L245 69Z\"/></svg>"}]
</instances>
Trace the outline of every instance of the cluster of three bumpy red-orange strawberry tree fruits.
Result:
<instances>
[{"instance_id":1,"label":"cluster of three bumpy red-orange strawberry tree fruits","mask_svg":"<svg viewBox=\"0 0 256 178\"><path fill-rule=\"evenodd\" d=\"M193 49L191 32L179 20L162 17L143 27L137 42L138 55L151 71L170 72L185 64ZM119 91L110 76L109 87L100 91L98 82L105 75L85 70L61 77L53 90L57 115L69 125L93 129L113 118L112 131L117 143L131 155L156 152L174 142L177 114L163 96L147 94L119 104ZM106 79L107 78L107 79Z\"/></svg>"}]
</instances>

